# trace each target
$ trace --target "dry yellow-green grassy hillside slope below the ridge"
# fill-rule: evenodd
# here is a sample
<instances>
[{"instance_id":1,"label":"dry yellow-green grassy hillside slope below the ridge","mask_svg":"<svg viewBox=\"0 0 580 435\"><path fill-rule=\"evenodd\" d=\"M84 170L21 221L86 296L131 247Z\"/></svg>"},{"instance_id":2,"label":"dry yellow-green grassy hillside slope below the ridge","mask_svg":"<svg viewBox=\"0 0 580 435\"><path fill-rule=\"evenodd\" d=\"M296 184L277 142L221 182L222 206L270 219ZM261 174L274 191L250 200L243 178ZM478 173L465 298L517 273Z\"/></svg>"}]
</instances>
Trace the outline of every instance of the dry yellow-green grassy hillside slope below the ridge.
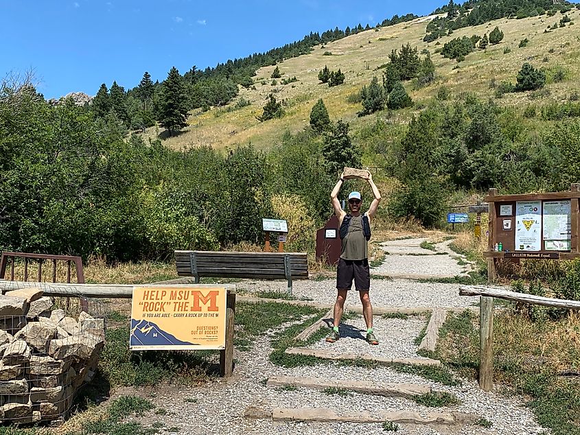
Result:
<instances>
[{"instance_id":1,"label":"dry yellow-green grassy hillside slope below the ridge","mask_svg":"<svg viewBox=\"0 0 580 435\"><path fill-rule=\"evenodd\" d=\"M572 21L577 21L580 12L572 10L568 12L568 16ZM224 149L251 142L256 148L267 149L284 131L297 132L308 124L310 109L318 98L324 99L331 119L349 121L351 129L356 131L374 117L357 117L361 106L347 102L347 97L352 93L358 93L364 84L370 82L373 75L380 78L382 70L376 69L388 62L391 50L400 49L401 45L406 43L416 46L419 52L428 49L437 68L437 80L431 86L415 90L410 82L406 83L407 91L416 103L414 110L420 108L422 102L434 97L440 86L446 86L453 95L469 91L483 99L493 98L494 89L489 86L491 80L494 79L497 84L502 80L515 82L515 75L523 62L531 62L537 68L559 66L567 71L566 80L548 84L546 89L549 93L544 92L544 95L540 95L539 99L533 102L534 104L560 102L567 99L571 93L580 91L577 80L580 69L578 62L580 38L575 32L576 27L572 25L544 33L548 26L559 22L561 19L559 13L555 16L542 15L521 20L500 19L484 25L465 27L451 36L439 38L432 43L424 43L426 23L433 18L434 16L421 17L408 23L361 32L325 46L314 47L314 51L308 55L279 63L282 79L292 78L295 75L299 80L292 84L282 85L282 79L278 79L277 84L272 85L270 75L275 67L259 69L254 78L255 89L241 88L238 97L249 100L250 106L231 111L228 110L228 106L211 108L205 113L194 110L189 116L187 128L177 137L166 139L164 143L174 149L200 145ZM498 45L489 45L485 51L476 50L463 62L458 63L435 53L452 38L469 37L473 34L483 36L484 33L489 34L496 25L504 32L502 42ZM520 40L524 38L529 40L528 45L518 47ZM325 55L325 52L332 53L332 56ZM346 75L345 84L333 88L321 84L318 81L318 71L325 65L332 70L340 68ZM256 117L262 114L266 97L272 92L278 100L286 103L286 115L281 119L260 122ZM531 102L529 93L511 93L498 99L498 104L520 108ZM234 105L235 102L229 106ZM411 111L398 112L393 120L395 123L405 122ZM385 117L386 111L379 115ZM154 138L159 132L159 128L150 128L144 137Z\"/></svg>"}]
</instances>

